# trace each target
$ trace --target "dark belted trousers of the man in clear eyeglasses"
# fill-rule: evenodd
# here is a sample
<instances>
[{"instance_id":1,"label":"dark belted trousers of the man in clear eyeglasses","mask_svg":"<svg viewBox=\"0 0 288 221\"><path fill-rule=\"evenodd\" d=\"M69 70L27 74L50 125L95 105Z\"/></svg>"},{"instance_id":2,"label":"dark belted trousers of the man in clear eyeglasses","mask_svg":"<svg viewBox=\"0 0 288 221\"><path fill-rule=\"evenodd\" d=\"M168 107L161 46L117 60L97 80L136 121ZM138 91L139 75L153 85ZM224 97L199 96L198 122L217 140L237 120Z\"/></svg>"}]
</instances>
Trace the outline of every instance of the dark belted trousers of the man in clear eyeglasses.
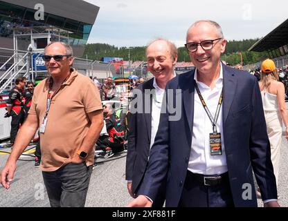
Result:
<instances>
[{"instance_id":1,"label":"dark belted trousers of the man in clear eyeglasses","mask_svg":"<svg viewBox=\"0 0 288 221\"><path fill-rule=\"evenodd\" d=\"M179 207L231 207L234 206L228 178L222 183L206 186L187 171Z\"/></svg>"}]
</instances>

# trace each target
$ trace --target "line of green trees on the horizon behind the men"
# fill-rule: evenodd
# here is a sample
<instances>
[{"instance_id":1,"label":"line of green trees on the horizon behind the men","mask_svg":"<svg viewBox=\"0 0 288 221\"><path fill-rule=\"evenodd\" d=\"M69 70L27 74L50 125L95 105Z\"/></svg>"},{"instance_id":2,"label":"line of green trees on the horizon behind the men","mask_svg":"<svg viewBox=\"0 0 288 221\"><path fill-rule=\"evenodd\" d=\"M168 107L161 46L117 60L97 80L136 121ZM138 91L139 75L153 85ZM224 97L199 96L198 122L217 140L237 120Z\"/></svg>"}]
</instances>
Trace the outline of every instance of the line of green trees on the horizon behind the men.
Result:
<instances>
[{"instance_id":1,"label":"line of green trees on the horizon behind the men","mask_svg":"<svg viewBox=\"0 0 288 221\"><path fill-rule=\"evenodd\" d=\"M259 39L243 39L242 41L228 41L226 51L222 55L222 60L232 66L241 63L240 52L243 65L256 63L267 57L265 52L250 52L248 49ZM125 61L145 61L145 46L143 47L116 47L109 44L87 44L84 49L83 58L100 61L102 57L122 57ZM190 61L185 47L178 48L178 61Z\"/></svg>"}]
</instances>

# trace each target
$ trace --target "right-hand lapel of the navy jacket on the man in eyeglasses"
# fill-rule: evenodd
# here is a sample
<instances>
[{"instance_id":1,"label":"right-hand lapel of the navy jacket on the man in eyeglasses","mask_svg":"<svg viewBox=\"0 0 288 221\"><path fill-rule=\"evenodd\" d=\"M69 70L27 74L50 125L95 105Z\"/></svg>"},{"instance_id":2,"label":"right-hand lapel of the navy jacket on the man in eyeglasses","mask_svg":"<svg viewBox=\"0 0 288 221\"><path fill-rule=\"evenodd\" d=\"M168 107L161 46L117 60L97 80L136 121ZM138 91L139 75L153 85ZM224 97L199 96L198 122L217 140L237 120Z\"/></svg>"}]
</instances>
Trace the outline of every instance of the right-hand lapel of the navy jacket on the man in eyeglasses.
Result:
<instances>
[{"instance_id":1,"label":"right-hand lapel of the navy jacket on the man in eyeglasses","mask_svg":"<svg viewBox=\"0 0 288 221\"><path fill-rule=\"evenodd\" d=\"M234 77L233 71L223 65L223 125L228 117L231 104L237 87L237 79Z\"/></svg>"}]
</instances>

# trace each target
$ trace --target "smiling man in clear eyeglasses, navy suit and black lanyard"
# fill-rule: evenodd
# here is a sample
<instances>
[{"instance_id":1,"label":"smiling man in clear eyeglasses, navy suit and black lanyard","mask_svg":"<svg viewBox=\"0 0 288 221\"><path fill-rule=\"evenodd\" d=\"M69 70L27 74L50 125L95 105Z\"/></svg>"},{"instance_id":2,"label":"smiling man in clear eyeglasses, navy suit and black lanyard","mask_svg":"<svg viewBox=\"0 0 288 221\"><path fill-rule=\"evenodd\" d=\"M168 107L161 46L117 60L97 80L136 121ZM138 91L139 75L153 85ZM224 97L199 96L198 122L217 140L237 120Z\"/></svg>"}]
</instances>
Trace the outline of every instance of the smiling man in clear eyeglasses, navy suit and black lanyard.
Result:
<instances>
[{"instance_id":1,"label":"smiling man in clear eyeglasses, navy suit and black lanyard","mask_svg":"<svg viewBox=\"0 0 288 221\"><path fill-rule=\"evenodd\" d=\"M159 131L138 191L128 206L150 206L166 182L166 206L257 206L253 173L264 206L279 206L258 82L222 64L226 40L214 21L197 21L186 39L196 69L168 82L173 113Z\"/></svg>"}]
</instances>

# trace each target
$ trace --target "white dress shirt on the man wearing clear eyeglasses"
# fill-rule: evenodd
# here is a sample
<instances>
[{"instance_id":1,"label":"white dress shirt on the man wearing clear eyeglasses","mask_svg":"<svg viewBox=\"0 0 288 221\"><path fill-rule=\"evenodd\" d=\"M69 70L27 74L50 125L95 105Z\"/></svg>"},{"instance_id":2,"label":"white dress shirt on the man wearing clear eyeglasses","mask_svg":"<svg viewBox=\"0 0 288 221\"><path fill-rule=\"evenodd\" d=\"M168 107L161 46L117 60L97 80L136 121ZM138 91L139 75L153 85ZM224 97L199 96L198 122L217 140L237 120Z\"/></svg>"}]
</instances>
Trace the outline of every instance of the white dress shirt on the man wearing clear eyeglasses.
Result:
<instances>
[{"instance_id":1,"label":"white dress shirt on the man wearing clear eyeglasses","mask_svg":"<svg viewBox=\"0 0 288 221\"><path fill-rule=\"evenodd\" d=\"M216 80L216 84L213 90L211 90L211 88L206 84L197 80L197 69L195 70L194 79L197 82L200 93L206 102L211 115L214 118L219 102L219 97L223 88L222 64L220 65L219 78ZM217 119L216 126L217 132L221 133L222 155L210 155L209 134L213 133L213 126L204 109L204 106L201 104L199 95L195 88L192 146L188 164L188 170L192 173L219 175L228 171L222 125L222 106L219 111L219 117Z\"/></svg>"}]
</instances>

